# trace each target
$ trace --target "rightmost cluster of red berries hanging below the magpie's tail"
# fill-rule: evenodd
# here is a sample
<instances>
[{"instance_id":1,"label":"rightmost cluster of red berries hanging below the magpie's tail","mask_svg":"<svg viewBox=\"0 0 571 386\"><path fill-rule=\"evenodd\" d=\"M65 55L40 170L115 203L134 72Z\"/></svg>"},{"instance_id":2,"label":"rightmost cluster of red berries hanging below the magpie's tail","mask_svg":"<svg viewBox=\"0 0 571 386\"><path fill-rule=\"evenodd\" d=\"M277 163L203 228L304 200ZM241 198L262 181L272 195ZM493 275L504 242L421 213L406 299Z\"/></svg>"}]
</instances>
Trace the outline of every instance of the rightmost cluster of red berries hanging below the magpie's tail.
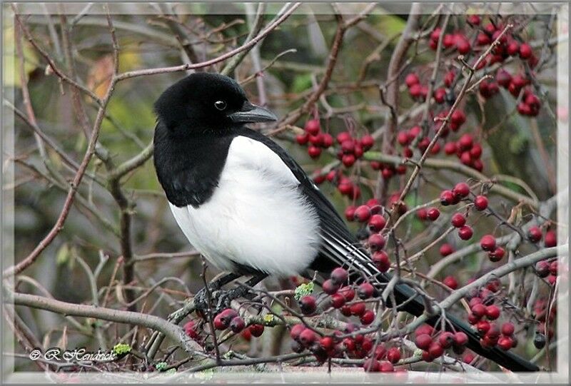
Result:
<instances>
[{"instance_id":1,"label":"rightmost cluster of red berries hanging below the magpie's tail","mask_svg":"<svg viewBox=\"0 0 571 386\"><path fill-rule=\"evenodd\" d=\"M447 349L452 349L460 355L464 352L468 343L468 335L464 332L443 331L435 334L435 330L430 325L421 325L415 332L415 345L423 350L422 357L425 362L432 362L442 356Z\"/></svg>"}]
</instances>

